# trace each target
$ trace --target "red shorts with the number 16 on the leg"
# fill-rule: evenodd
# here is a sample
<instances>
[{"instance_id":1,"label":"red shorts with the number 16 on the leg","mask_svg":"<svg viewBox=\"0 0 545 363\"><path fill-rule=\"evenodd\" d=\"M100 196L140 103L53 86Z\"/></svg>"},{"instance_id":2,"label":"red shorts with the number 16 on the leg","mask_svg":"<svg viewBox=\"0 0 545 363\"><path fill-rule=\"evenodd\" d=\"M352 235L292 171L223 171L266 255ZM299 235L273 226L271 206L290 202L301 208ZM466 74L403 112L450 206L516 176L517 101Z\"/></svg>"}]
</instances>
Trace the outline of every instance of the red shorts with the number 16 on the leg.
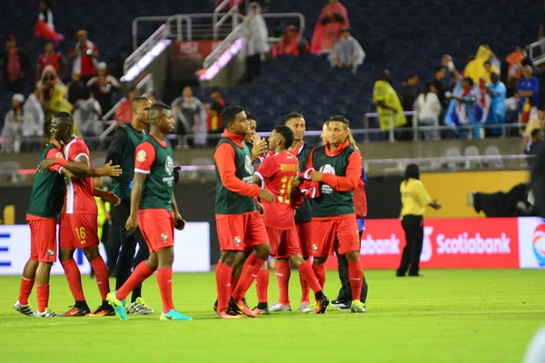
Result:
<instances>
[{"instance_id":1,"label":"red shorts with the number 16 on the leg","mask_svg":"<svg viewBox=\"0 0 545 363\"><path fill-rule=\"evenodd\" d=\"M94 214L63 214L59 245L61 249L84 250L98 247L98 223Z\"/></svg>"}]
</instances>

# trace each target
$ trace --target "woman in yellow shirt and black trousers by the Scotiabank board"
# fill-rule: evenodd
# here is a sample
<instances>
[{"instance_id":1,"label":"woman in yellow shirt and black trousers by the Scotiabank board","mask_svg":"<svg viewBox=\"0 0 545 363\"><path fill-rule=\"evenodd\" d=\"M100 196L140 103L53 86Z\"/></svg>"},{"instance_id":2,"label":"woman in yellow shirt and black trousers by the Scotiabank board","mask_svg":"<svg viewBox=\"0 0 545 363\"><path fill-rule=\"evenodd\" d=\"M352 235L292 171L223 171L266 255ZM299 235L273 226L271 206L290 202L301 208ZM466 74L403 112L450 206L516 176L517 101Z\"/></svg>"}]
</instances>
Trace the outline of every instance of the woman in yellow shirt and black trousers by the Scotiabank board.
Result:
<instances>
[{"instance_id":1,"label":"woman in yellow shirt and black trousers by the Scotiabank board","mask_svg":"<svg viewBox=\"0 0 545 363\"><path fill-rule=\"evenodd\" d=\"M441 204L431 201L430 194L420 181L420 170L416 164L407 165L400 192L401 226L405 231L406 245L396 275L405 276L409 270L409 276L422 276L419 273L419 264L424 240L424 211L427 206L437 211L441 209Z\"/></svg>"}]
</instances>

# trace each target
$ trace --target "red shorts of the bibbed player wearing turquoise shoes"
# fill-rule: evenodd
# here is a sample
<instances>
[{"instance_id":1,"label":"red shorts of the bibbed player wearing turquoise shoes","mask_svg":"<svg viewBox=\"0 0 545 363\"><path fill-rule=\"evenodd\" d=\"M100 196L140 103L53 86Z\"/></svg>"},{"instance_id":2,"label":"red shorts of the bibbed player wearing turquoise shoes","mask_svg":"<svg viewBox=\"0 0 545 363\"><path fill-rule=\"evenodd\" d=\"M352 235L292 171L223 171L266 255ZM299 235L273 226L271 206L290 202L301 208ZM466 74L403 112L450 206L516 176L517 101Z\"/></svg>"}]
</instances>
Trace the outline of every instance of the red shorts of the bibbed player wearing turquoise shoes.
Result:
<instances>
[{"instance_id":1,"label":"red shorts of the bibbed player wearing turquoise shoes","mask_svg":"<svg viewBox=\"0 0 545 363\"><path fill-rule=\"evenodd\" d=\"M150 252L173 247L174 218L167 210L139 210L138 227Z\"/></svg>"}]
</instances>

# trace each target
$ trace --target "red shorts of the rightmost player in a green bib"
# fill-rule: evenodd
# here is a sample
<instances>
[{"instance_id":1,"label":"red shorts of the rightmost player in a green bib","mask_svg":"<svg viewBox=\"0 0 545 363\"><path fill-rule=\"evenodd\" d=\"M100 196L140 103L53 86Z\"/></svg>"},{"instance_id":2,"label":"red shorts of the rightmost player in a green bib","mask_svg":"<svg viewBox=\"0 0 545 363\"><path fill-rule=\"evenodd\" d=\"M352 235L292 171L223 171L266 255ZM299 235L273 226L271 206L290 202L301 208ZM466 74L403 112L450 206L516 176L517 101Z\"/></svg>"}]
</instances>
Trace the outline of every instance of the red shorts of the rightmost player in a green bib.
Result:
<instances>
[{"instance_id":1,"label":"red shorts of the rightmost player in a green bib","mask_svg":"<svg viewBox=\"0 0 545 363\"><path fill-rule=\"evenodd\" d=\"M314 257L326 257L334 250L335 237L339 240L339 254L360 250L358 223L355 218L312 221Z\"/></svg>"}]
</instances>

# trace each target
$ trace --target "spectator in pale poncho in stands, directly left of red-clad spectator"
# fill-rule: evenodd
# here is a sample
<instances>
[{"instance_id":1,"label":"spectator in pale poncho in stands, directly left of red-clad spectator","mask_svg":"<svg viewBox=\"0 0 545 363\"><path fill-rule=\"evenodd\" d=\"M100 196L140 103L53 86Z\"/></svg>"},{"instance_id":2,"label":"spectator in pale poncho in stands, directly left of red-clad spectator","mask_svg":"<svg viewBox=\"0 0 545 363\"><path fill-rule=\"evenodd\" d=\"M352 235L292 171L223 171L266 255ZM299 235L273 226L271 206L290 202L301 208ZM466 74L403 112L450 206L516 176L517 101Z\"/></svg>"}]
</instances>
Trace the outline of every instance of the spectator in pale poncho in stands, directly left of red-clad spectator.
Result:
<instances>
[{"instance_id":1,"label":"spectator in pale poncho in stands, directly left of red-clad spectator","mask_svg":"<svg viewBox=\"0 0 545 363\"><path fill-rule=\"evenodd\" d=\"M204 123L203 104L201 100L193 97L191 87L183 87L182 97L176 98L171 108L173 110L176 125L174 132L178 135L177 148L187 149L187 135L193 134Z\"/></svg>"}]
</instances>

